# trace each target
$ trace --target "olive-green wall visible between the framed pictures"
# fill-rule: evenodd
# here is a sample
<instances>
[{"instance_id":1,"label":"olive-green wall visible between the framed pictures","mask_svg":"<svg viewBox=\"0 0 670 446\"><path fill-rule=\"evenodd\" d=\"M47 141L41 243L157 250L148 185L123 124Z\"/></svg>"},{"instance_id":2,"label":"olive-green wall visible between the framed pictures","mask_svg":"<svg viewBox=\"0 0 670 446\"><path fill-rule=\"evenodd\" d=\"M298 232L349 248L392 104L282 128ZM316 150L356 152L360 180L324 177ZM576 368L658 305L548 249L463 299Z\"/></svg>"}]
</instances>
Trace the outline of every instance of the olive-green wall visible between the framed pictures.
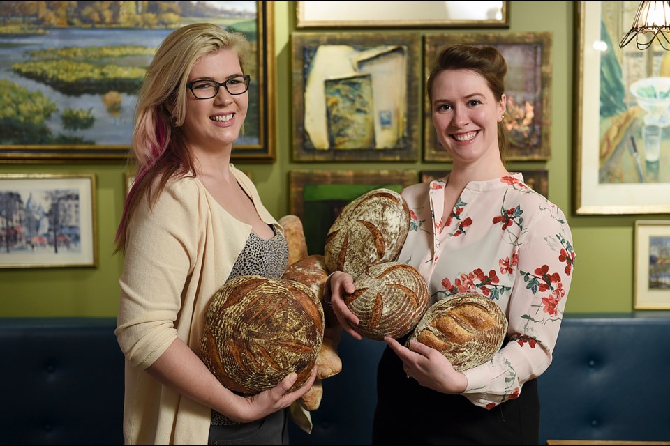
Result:
<instances>
[{"instance_id":1,"label":"olive-green wall visible between the framed pictures","mask_svg":"<svg viewBox=\"0 0 670 446\"><path fill-rule=\"evenodd\" d=\"M276 1L277 159L266 164L237 163L251 172L260 195L276 217L289 210L290 169L416 169L449 166L425 162L295 163L291 160L290 32L295 30L292 2ZM549 169L549 197L565 211L577 254L567 312L630 312L633 289L633 226L635 220L659 220L667 215L597 215L572 213L572 69L574 53L572 1L512 1L509 32L551 31L551 160L514 162L511 170ZM431 32L430 30L405 30ZM443 30L436 30L443 31ZM464 32L454 29L454 32ZM508 32L476 29L473 33ZM124 171L119 164L0 164L0 173L94 172L97 177L97 268L0 269L0 316L116 316L117 279L122 260L112 256L114 231L124 199Z\"/></svg>"}]
</instances>

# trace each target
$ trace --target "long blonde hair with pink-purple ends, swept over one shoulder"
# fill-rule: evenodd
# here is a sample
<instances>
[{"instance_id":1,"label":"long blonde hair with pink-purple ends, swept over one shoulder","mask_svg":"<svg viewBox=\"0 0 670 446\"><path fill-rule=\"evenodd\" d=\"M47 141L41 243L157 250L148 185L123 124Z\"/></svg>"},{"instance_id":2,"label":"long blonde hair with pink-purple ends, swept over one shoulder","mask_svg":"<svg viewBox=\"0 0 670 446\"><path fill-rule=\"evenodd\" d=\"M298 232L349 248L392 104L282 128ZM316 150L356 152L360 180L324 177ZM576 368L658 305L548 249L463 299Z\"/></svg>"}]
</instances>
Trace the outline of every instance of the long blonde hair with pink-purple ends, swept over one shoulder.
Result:
<instances>
[{"instance_id":1,"label":"long blonde hair with pink-purple ends, swept over one shoulder","mask_svg":"<svg viewBox=\"0 0 670 446\"><path fill-rule=\"evenodd\" d=\"M186 84L195 63L221 49L232 49L244 72L248 41L241 33L215 24L183 26L172 31L156 50L137 94L130 155L137 175L126 197L115 252L125 249L128 222L142 194L153 204L172 176L195 176L195 160L180 128L186 115Z\"/></svg>"}]
</instances>

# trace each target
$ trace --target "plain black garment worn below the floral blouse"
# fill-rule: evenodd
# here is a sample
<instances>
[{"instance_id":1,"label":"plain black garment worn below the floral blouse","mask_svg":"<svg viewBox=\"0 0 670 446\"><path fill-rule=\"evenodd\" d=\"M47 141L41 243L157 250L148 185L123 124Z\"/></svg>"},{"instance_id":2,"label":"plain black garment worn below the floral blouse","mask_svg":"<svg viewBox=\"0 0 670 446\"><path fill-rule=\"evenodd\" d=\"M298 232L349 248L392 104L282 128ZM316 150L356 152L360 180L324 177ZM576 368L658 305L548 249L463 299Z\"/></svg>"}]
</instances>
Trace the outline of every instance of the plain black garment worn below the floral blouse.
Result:
<instances>
[{"instance_id":1,"label":"plain black garment worn below the floral blouse","mask_svg":"<svg viewBox=\"0 0 670 446\"><path fill-rule=\"evenodd\" d=\"M400 341L400 340L399 340ZM435 392L407 378L403 362L387 347L377 369L373 445L537 445L537 380L519 398L488 410L463 395Z\"/></svg>"}]
</instances>

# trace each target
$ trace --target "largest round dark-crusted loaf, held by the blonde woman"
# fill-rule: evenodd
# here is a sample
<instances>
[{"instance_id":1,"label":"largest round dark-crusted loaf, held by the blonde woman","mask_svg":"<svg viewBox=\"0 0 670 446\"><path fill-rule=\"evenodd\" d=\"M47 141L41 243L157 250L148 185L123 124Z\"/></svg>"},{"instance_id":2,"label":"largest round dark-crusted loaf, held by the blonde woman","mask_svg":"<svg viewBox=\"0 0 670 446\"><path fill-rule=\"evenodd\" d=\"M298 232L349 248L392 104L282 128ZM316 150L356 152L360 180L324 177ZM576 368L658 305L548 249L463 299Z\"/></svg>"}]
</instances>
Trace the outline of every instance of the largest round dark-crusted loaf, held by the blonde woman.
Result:
<instances>
[{"instance_id":1,"label":"largest round dark-crusted loaf, held by the blonde woman","mask_svg":"<svg viewBox=\"0 0 670 446\"><path fill-rule=\"evenodd\" d=\"M209 304L200 357L228 389L258 394L292 371L309 379L323 341L323 309L308 286L258 275L236 277Z\"/></svg>"}]
</instances>

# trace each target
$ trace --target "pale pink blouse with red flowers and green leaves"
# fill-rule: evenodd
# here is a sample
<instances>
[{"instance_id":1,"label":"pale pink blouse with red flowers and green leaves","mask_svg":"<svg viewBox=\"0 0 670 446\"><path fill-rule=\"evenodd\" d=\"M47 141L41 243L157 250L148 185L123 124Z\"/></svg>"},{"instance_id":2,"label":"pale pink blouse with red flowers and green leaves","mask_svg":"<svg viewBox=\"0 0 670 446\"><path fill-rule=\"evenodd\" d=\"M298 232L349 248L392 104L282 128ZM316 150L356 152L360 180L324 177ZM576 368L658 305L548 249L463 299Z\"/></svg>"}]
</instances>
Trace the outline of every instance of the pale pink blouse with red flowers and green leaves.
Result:
<instances>
[{"instance_id":1,"label":"pale pink blouse with red flowers and green leaves","mask_svg":"<svg viewBox=\"0 0 670 446\"><path fill-rule=\"evenodd\" d=\"M431 304L475 292L507 316L507 344L464 372L463 395L493 408L551 364L572 280L572 234L563 212L521 174L468 183L440 227L445 185L442 178L403 190L411 220L398 260L421 272Z\"/></svg>"}]
</instances>

